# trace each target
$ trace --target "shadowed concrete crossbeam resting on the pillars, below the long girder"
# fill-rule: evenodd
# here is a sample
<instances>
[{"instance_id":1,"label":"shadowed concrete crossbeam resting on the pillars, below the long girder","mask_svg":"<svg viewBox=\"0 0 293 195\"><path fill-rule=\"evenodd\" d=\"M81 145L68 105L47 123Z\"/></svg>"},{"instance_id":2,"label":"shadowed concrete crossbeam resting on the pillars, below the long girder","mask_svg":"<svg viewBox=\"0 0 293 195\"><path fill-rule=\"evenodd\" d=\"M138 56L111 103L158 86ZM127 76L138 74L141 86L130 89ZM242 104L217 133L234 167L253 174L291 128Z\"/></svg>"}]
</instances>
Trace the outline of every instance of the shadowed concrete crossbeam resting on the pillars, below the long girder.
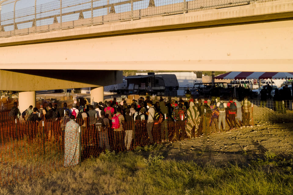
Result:
<instances>
[{"instance_id":1,"label":"shadowed concrete crossbeam resting on the pillars, below the long girder","mask_svg":"<svg viewBox=\"0 0 293 195\"><path fill-rule=\"evenodd\" d=\"M13 91L100 87L122 83L122 71L0 70L0 83L0 90Z\"/></svg>"}]
</instances>

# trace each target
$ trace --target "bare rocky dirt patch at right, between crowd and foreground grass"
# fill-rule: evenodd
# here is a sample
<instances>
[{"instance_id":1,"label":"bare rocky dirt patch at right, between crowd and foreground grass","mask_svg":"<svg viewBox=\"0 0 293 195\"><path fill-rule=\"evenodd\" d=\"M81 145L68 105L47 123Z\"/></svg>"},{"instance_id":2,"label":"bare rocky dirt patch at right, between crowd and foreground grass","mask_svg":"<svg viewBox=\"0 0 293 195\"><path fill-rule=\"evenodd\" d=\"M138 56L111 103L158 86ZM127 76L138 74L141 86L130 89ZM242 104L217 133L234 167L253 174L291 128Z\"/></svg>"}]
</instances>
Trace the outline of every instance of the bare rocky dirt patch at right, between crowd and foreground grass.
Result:
<instances>
[{"instance_id":1,"label":"bare rocky dirt patch at right, between crowd and foreground grass","mask_svg":"<svg viewBox=\"0 0 293 195\"><path fill-rule=\"evenodd\" d=\"M217 165L249 165L251 160L263 159L266 151L272 151L283 158L292 158L292 125L293 123L256 122L255 127L177 141L150 153L161 154L166 159L202 164L211 162Z\"/></svg>"}]
</instances>

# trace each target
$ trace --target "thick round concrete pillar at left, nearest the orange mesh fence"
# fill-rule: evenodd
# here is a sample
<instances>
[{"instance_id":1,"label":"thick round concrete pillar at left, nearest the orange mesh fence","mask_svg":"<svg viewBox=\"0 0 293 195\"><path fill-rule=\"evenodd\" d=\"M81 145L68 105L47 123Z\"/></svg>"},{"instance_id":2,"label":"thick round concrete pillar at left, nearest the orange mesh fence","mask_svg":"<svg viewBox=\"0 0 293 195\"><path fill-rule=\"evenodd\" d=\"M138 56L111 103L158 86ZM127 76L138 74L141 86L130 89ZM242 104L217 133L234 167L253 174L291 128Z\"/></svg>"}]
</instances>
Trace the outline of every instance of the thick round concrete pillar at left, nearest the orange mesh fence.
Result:
<instances>
[{"instance_id":1,"label":"thick round concrete pillar at left, nearest the orange mesh fence","mask_svg":"<svg viewBox=\"0 0 293 195\"><path fill-rule=\"evenodd\" d=\"M20 112L25 111L30 105L36 107L36 92L23 91L18 93L18 105Z\"/></svg>"}]
</instances>

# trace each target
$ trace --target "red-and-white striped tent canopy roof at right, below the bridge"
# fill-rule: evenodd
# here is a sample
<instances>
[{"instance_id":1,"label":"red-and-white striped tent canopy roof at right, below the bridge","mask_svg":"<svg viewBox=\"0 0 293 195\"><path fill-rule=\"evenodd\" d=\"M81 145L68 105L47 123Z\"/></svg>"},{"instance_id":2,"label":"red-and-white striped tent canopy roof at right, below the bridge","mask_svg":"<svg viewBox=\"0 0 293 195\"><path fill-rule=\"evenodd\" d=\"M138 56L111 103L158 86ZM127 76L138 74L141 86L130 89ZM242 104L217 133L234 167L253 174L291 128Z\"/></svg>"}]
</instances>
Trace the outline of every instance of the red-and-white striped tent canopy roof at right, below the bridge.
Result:
<instances>
[{"instance_id":1,"label":"red-and-white striped tent canopy roof at right, below the bridge","mask_svg":"<svg viewBox=\"0 0 293 195\"><path fill-rule=\"evenodd\" d=\"M293 79L293 73L284 72L228 72L215 76L215 79Z\"/></svg>"}]
</instances>

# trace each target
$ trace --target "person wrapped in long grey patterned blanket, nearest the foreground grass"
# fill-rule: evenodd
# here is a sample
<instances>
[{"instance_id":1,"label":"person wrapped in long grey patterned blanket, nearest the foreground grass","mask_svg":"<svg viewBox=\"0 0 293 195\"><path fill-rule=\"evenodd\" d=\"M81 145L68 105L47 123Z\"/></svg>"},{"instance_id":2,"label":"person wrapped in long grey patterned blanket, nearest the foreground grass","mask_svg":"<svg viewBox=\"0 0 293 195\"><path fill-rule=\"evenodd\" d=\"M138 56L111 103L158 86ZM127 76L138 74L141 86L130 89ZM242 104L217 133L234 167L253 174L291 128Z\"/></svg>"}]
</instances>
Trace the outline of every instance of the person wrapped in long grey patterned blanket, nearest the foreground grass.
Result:
<instances>
[{"instance_id":1,"label":"person wrapped in long grey patterned blanket, nearest the foreground grass","mask_svg":"<svg viewBox=\"0 0 293 195\"><path fill-rule=\"evenodd\" d=\"M65 127L64 167L75 166L79 163L79 125L74 119L74 115L71 115Z\"/></svg>"}]
</instances>

